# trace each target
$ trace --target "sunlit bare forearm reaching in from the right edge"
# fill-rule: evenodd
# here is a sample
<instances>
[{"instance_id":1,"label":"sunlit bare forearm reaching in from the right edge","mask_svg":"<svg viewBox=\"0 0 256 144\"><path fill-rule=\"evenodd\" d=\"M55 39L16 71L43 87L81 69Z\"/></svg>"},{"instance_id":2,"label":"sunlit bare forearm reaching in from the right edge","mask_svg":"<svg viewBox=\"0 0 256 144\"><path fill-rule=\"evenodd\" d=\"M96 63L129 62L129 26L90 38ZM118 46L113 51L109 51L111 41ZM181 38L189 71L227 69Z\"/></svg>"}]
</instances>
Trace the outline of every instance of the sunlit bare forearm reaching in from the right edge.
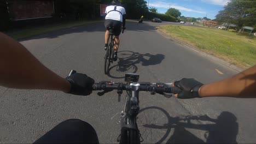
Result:
<instances>
[{"instance_id":1,"label":"sunlit bare forearm reaching in from the right edge","mask_svg":"<svg viewBox=\"0 0 256 144\"><path fill-rule=\"evenodd\" d=\"M222 81L204 85L200 97L256 98L256 65Z\"/></svg>"}]
</instances>

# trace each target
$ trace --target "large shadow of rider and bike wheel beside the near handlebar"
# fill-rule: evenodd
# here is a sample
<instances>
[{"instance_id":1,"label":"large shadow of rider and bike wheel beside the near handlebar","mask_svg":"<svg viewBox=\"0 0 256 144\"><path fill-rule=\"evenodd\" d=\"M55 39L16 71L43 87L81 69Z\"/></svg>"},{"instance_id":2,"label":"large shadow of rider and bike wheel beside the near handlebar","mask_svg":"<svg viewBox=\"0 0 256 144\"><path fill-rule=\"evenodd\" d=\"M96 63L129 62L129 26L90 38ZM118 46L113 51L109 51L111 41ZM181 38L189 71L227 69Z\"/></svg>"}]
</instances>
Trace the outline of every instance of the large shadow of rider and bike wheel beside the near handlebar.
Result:
<instances>
[{"instance_id":1,"label":"large shadow of rider and bike wheel beside the near handlebar","mask_svg":"<svg viewBox=\"0 0 256 144\"><path fill-rule=\"evenodd\" d=\"M151 106L139 112L137 123L144 143L237 143L236 120L236 116L227 111L220 113L217 119L207 115L171 117L161 107ZM206 131L201 136L196 133L205 139L191 131Z\"/></svg>"}]
</instances>

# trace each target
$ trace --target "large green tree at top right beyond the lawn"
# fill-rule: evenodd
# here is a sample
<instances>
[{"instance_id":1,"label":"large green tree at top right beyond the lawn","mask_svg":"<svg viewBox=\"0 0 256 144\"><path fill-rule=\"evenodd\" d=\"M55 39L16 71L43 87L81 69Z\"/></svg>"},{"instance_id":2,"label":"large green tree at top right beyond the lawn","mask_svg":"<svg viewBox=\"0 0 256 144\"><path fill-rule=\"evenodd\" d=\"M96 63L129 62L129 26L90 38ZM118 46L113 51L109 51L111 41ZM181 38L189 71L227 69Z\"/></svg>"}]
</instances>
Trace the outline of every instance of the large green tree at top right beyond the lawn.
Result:
<instances>
[{"instance_id":1,"label":"large green tree at top right beyond the lawn","mask_svg":"<svg viewBox=\"0 0 256 144\"><path fill-rule=\"evenodd\" d=\"M231 0L216 15L216 20L222 23L233 23L238 28L254 26L256 23L255 0Z\"/></svg>"}]
</instances>

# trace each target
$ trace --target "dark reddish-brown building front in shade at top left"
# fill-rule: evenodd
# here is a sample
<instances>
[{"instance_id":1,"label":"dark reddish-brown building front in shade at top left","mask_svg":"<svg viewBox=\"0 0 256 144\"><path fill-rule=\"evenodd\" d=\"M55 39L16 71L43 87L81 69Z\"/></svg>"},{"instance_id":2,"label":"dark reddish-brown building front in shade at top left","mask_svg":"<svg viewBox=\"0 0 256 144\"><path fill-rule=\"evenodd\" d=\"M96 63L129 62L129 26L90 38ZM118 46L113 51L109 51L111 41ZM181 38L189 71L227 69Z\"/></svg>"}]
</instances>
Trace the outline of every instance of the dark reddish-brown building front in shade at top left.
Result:
<instances>
[{"instance_id":1,"label":"dark reddish-brown building front in shade at top left","mask_svg":"<svg viewBox=\"0 0 256 144\"><path fill-rule=\"evenodd\" d=\"M5 0L10 27L44 25L53 22L54 0Z\"/></svg>"}]
</instances>

